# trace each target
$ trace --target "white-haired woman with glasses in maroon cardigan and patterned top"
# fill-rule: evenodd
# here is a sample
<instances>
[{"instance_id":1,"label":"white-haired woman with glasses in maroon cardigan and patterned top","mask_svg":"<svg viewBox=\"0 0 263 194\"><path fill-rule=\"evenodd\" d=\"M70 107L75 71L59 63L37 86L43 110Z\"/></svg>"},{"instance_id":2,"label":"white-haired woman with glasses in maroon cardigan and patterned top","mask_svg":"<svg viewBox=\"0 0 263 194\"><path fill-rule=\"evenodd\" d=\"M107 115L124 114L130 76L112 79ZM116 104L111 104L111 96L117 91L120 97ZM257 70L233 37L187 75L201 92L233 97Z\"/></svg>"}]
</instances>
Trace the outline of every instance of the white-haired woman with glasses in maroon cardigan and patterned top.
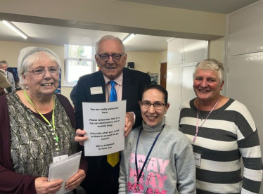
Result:
<instances>
[{"instance_id":1,"label":"white-haired woman with glasses in maroon cardigan and patterned top","mask_svg":"<svg viewBox=\"0 0 263 194\"><path fill-rule=\"evenodd\" d=\"M53 157L72 155L75 117L72 105L58 88L60 61L48 48L27 47L18 57L23 90L0 98L0 193L56 193L63 180L48 181ZM77 188L86 167L65 188Z\"/></svg>"}]
</instances>

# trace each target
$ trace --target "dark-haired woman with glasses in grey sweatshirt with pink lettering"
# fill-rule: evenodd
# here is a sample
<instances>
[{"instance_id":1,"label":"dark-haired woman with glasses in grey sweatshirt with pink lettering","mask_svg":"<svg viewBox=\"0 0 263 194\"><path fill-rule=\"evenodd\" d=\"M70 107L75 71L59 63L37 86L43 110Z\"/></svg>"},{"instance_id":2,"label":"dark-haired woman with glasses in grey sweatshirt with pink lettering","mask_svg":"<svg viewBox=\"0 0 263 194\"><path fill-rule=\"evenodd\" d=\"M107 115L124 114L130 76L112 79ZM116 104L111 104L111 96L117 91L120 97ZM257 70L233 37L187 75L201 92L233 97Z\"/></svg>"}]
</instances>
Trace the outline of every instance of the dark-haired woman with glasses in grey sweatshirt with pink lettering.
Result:
<instances>
[{"instance_id":1,"label":"dark-haired woman with glasses in grey sweatshirt with pink lettering","mask_svg":"<svg viewBox=\"0 0 263 194\"><path fill-rule=\"evenodd\" d=\"M195 162L184 134L165 124L168 93L160 85L146 86L143 125L125 140L120 164L119 193L195 193Z\"/></svg>"}]
</instances>

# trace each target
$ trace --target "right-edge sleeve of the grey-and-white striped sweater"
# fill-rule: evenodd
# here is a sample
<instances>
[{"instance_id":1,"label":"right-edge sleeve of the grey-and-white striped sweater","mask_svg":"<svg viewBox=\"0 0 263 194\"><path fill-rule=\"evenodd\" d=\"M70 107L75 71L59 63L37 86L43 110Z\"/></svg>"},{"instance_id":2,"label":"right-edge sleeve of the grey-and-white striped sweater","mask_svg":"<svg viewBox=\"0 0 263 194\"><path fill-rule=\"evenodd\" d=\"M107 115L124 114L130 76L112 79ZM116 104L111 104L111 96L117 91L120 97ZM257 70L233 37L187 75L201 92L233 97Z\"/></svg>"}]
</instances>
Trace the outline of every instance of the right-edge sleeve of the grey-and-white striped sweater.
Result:
<instances>
[{"instance_id":1,"label":"right-edge sleeve of the grey-and-white striped sweater","mask_svg":"<svg viewBox=\"0 0 263 194\"><path fill-rule=\"evenodd\" d=\"M248 108L238 101L234 103L238 149L244 164L241 193L259 193L262 182L262 155L257 127Z\"/></svg>"}]
</instances>

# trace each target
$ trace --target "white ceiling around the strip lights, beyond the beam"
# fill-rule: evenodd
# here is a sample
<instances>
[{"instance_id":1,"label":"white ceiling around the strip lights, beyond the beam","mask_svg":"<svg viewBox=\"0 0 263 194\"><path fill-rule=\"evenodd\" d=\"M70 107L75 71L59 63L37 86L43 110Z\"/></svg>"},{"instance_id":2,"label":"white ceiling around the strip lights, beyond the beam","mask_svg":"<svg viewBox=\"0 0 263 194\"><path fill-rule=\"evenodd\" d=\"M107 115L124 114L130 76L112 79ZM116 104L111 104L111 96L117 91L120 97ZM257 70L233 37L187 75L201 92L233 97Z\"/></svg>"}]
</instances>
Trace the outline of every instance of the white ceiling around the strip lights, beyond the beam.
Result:
<instances>
[{"instance_id":1,"label":"white ceiling around the strip lights, beyond the beam","mask_svg":"<svg viewBox=\"0 0 263 194\"><path fill-rule=\"evenodd\" d=\"M25 32L27 40L10 30L0 22L0 40L32 42L34 44L64 44L95 46L104 35L114 35L120 39L127 37L128 33L86 30L72 27L58 27L32 23L13 22L20 30ZM155 37L142 34L136 36L125 44L127 51L143 51L160 53L167 50L167 39L170 37Z\"/></svg>"}]
</instances>

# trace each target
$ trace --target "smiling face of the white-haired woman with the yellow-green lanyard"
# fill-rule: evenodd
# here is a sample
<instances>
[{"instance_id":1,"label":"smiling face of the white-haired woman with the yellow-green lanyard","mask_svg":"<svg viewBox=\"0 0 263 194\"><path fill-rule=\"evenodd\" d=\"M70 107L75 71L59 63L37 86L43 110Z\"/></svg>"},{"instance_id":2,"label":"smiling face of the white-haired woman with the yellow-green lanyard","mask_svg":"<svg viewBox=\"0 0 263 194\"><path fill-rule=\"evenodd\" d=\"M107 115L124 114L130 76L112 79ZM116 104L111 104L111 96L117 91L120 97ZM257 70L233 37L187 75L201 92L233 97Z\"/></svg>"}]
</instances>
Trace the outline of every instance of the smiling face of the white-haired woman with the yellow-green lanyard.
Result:
<instances>
[{"instance_id":1,"label":"smiling face of the white-haired woman with the yellow-green lanyard","mask_svg":"<svg viewBox=\"0 0 263 194\"><path fill-rule=\"evenodd\" d=\"M39 60L39 62L33 63L28 71L44 68L46 72L44 76L37 76L32 72L27 72L27 75L23 76L25 85L28 87L27 93L30 93L32 96L49 96L58 89L59 74L51 75L48 70L50 67L58 68L58 65L47 58L43 58Z\"/></svg>"}]
</instances>

